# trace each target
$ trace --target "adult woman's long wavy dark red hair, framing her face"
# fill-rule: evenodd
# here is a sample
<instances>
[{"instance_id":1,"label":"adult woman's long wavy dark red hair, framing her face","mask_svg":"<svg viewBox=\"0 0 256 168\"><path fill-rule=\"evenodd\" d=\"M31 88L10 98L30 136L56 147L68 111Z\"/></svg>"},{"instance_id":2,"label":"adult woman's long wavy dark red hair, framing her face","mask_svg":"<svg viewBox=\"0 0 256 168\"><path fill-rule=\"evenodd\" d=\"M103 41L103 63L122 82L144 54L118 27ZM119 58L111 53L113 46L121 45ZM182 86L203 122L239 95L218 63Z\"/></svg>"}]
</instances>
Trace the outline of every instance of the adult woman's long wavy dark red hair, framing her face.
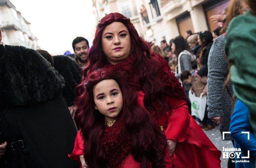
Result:
<instances>
[{"instance_id":1,"label":"adult woman's long wavy dark red hair, framing her face","mask_svg":"<svg viewBox=\"0 0 256 168\"><path fill-rule=\"evenodd\" d=\"M139 37L130 19L122 14L110 13L98 23L95 38L88 54L88 64L83 71L83 78L85 79L88 73L109 64L102 51L101 35L106 26L113 22L123 23L130 33L131 58L133 59L134 72L138 73L139 82L142 90L145 92L144 105L148 111L154 111L159 116L159 112L155 108L156 106L160 107L160 113L168 110L167 103L163 101L165 93L164 83L157 76L161 62L150 52L148 42ZM83 93L83 85L77 87L77 92L78 95Z\"/></svg>"}]
</instances>

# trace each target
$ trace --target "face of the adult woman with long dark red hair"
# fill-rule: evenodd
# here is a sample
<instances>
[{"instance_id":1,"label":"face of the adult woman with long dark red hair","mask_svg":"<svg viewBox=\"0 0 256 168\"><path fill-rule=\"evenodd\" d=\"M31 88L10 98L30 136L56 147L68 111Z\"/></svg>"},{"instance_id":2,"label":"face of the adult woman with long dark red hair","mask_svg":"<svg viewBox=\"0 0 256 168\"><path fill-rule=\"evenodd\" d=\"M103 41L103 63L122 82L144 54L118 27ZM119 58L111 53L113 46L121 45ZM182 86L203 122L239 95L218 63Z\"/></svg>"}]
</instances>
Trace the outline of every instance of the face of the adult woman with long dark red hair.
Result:
<instances>
[{"instance_id":1,"label":"face of the adult woman with long dark red hair","mask_svg":"<svg viewBox=\"0 0 256 168\"><path fill-rule=\"evenodd\" d=\"M111 64L118 64L131 55L131 37L121 22L108 25L101 36L102 50Z\"/></svg>"}]
</instances>

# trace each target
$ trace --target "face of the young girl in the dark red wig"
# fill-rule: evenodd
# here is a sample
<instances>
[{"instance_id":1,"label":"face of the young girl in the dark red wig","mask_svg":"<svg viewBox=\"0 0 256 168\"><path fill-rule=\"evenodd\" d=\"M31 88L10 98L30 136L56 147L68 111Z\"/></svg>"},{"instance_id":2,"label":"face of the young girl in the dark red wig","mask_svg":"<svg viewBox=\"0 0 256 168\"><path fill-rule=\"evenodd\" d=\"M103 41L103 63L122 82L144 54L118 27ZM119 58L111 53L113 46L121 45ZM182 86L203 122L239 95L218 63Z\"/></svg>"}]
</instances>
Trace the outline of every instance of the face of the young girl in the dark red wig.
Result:
<instances>
[{"instance_id":1,"label":"face of the young girl in the dark red wig","mask_svg":"<svg viewBox=\"0 0 256 168\"><path fill-rule=\"evenodd\" d=\"M123 96L114 79L98 82L93 89L95 109L105 116L106 121L114 122L123 109Z\"/></svg>"}]
</instances>

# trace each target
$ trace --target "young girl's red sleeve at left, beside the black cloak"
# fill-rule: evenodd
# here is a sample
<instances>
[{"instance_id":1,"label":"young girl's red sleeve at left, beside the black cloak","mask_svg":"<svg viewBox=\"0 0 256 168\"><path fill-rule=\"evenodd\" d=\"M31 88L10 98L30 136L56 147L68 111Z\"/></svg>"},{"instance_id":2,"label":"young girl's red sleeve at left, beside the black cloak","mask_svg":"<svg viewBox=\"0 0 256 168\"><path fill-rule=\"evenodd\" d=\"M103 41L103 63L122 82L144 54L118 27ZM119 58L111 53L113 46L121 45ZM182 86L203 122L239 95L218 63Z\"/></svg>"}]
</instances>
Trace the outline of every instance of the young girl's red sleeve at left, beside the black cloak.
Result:
<instances>
[{"instance_id":1,"label":"young girl's red sleeve at left, beside the black cloak","mask_svg":"<svg viewBox=\"0 0 256 168\"><path fill-rule=\"evenodd\" d=\"M79 158L80 155L83 155L83 137L81 135L81 130L79 130L78 133L76 134L76 140L75 140L73 152L71 153L71 155L68 155L68 156L70 157L70 159L77 160L81 165L80 158Z\"/></svg>"}]
</instances>

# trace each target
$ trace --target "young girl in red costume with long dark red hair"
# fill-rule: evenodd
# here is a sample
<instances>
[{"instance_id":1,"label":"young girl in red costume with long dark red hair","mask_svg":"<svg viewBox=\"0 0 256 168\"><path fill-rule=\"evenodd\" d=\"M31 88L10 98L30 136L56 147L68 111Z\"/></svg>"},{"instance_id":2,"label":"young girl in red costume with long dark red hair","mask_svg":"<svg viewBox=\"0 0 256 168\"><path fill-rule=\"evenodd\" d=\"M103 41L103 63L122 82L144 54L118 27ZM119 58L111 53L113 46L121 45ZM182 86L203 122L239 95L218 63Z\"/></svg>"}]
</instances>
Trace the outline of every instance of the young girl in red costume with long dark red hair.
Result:
<instances>
[{"instance_id":1,"label":"young girl in red costume with long dark red hair","mask_svg":"<svg viewBox=\"0 0 256 168\"><path fill-rule=\"evenodd\" d=\"M164 133L121 73L95 70L84 88L78 100L81 130L70 158L90 168L172 167Z\"/></svg>"}]
</instances>

